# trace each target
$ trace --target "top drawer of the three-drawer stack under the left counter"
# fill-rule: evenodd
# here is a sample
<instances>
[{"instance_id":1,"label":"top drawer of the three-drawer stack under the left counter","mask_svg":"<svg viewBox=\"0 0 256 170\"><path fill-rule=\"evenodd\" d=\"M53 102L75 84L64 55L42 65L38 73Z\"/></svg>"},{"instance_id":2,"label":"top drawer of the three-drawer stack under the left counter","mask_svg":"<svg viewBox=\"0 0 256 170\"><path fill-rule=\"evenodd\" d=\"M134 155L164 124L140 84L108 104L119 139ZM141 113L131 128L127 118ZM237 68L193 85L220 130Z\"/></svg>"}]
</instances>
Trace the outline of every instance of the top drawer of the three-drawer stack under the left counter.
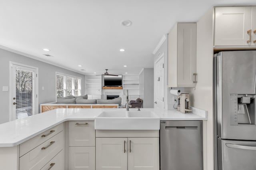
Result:
<instances>
[{"instance_id":1,"label":"top drawer of the three-drawer stack under the left counter","mask_svg":"<svg viewBox=\"0 0 256 170\"><path fill-rule=\"evenodd\" d=\"M20 157L28 153L30 150L34 149L36 146L50 139L52 136L58 134L63 129L64 123L57 125L56 127L50 128L49 130L46 130L45 132L38 134L34 138L20 144Z\"/></svg>"}]
</instances>

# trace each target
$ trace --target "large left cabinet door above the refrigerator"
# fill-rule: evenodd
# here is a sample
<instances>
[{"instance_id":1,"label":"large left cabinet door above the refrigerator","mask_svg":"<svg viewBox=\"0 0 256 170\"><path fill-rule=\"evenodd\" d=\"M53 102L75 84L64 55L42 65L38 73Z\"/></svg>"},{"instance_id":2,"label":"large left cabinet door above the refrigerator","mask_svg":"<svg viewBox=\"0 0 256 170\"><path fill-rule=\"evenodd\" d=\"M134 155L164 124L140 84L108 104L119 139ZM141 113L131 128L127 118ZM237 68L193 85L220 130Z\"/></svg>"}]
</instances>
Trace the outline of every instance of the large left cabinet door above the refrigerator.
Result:
<instances>
[{"instance_id":1,"label":"large left cabinet door above the refrigerator","mask_svg":"<svg viewBox=\"0 0 256 170\"><path fill-rule=\"evenodd\" d=\"M215 46L250 45L247 40L251 29L252 7L218 7L215 8Z\"/></svg>"}]
</instances>

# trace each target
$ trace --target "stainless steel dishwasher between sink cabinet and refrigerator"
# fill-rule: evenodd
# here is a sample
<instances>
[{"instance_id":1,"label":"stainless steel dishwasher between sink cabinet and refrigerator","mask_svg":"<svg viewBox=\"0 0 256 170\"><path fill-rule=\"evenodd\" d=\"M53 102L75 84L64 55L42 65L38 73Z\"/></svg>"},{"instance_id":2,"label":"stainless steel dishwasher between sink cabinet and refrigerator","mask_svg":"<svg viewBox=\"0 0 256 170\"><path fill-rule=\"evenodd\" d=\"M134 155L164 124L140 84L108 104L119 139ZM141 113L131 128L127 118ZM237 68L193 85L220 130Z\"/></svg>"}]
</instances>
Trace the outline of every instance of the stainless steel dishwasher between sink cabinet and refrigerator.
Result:
<instances>
[{"instance_id":1,"label":"stainless steel dishwasher between sink cabinet and refrigerator","mask_svg":"<svg viewBox=\"0 0 256 170\"><path fill-rule=\"evenodd\" d=\"M161 170L203 170L202 121L160 121Z\"/></svg>"}]
</instances>

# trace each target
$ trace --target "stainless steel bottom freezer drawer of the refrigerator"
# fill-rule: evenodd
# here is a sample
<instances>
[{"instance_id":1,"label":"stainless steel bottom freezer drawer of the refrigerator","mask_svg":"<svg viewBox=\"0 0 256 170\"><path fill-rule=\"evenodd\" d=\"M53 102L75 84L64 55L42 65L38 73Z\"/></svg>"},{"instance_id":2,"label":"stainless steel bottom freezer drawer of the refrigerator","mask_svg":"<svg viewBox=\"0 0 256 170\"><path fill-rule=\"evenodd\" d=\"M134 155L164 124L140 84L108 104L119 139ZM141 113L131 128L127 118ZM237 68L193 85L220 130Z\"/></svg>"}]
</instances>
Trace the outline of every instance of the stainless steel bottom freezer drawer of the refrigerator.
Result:
<instances>
[{"instance_id":1,"label":"stainless steel bottom freezer drawer of the refrigerator","mask_svg":"<svg viewBox=\"0 0 256 170\"><path fill-rule=\"evenodd\" d=\"M256 141L218 138L218 170L255 170Z\"/></svg>"}]
</instances>

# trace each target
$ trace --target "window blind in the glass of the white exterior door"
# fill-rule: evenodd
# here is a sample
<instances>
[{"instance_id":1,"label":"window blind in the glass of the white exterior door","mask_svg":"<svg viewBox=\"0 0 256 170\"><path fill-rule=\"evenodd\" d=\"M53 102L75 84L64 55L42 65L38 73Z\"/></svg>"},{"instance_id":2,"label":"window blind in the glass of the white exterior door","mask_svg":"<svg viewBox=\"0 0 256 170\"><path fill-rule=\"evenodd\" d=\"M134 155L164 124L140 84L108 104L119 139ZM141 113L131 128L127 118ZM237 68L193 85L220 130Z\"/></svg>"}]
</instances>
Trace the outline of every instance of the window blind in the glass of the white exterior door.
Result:
<instances>
[{"instance_id":1,"label":"window blind in the glass of the white exterior door","mask_svg":"<svg viewBox=\"0 0 256 170\"><path fill-rule=\"evenodd\" d=\"M16 119L36 113L34 72L16 68Z\"/></svg>"}]
</instances>

